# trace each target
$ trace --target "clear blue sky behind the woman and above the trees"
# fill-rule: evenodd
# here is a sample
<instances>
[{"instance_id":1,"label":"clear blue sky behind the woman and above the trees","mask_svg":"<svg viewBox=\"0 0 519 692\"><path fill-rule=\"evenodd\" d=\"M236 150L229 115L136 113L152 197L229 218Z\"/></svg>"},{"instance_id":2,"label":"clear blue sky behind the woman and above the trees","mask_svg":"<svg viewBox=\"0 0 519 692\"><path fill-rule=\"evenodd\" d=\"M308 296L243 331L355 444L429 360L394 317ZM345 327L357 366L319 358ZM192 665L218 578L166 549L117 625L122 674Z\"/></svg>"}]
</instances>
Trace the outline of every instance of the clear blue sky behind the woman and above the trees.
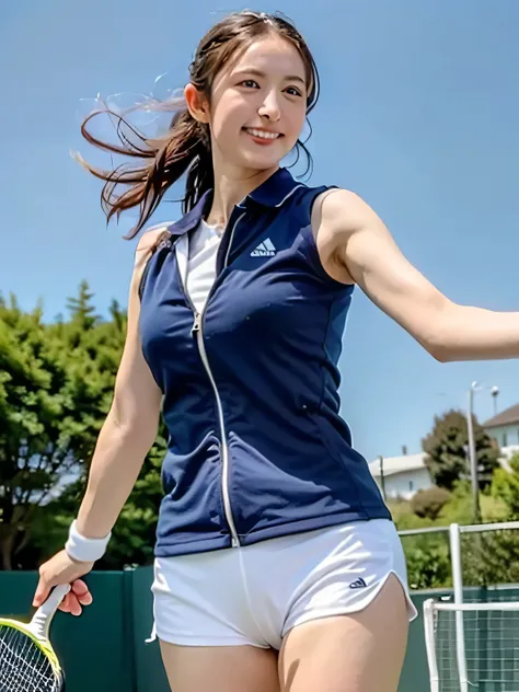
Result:
<instances>
[{"instance_id":1,"label":"clear blue sky behind the woman and above the trees","mask_svg":"<svg viewBox=\"0 0 519 692\"><path fill-rule=\"evenodd\" d=\"M0 291L64 311L82 278L100 313L126 304L134 244L106 229L80 99L182 86L203 33L244 5L208 0L4 0L0 4ZM461 303L519 309L517 0L266 2L307 37L322 78L312 114L314 184L348 187L406 256ZM195 10L195 11L193 11ZM95 160L95 159L94 159ZM164 204L155 220L174 219ZM341 360L343 414L368 459L420 439L463 406L473 380L519 402L519 365L440 365L357 291ZM492 415L477 394L480 419Z\"/></svg>"}]
</instances>

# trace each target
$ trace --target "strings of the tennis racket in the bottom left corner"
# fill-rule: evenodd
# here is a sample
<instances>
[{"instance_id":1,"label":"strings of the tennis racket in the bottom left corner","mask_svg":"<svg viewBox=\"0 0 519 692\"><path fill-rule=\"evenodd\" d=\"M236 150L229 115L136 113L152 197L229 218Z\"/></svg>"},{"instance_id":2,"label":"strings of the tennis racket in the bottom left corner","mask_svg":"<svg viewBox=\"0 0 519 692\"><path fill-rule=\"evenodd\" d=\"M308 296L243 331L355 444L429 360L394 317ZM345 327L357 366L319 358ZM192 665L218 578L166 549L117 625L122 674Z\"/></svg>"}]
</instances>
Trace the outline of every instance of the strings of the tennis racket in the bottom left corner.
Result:
<instances>
[{"instance_id":1,"label":"strings of the tennis racket in the bottom left corner","mask_svg":"<svg viewBox=\"0 0 519 692\"><path fill-rule=\"evenodd\" d=\"M0 692L57 692L49 659L26 634L0 626Z\"/></svg>"}]
</instances>

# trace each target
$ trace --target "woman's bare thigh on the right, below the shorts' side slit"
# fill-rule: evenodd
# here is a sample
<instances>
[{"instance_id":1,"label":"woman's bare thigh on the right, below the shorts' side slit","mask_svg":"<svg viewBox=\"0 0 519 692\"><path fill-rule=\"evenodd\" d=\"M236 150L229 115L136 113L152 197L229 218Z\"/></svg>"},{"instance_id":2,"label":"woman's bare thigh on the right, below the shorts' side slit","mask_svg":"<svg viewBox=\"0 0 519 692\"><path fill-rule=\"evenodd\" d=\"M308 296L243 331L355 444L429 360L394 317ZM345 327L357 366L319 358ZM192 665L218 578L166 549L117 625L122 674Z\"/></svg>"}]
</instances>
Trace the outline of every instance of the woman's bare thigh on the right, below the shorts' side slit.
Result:
<instances>
[{"instance_id":1,"label":"woman's bare thigh on the right, below the shorts' side slit","mask_svg":"<svg viewBox=\"0 0 519 692\"><path fill-rule=\"evenodd\" d=\"M407 644L408 612L391 575L362 611L293 627L279 655L282 692L396 692Z\"/></svg>"}]
</instances>

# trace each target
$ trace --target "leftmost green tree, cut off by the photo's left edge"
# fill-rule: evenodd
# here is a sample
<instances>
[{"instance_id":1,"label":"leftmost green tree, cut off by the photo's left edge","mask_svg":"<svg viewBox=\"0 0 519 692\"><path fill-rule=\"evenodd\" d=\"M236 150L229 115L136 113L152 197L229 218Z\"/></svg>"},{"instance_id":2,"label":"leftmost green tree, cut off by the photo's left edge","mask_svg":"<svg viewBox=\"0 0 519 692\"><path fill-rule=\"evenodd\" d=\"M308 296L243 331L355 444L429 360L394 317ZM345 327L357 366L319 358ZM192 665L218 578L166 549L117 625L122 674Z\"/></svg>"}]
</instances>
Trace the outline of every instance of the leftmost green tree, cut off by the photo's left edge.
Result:
<instances>
[{"instance_id":1,"label":"leftmost green tree, cut off by the photo's left edge","mask_svg":"<svg viewBox=\"0 0 519 692\"><path fill-rule=\"evenodd\" d=\"M24 314L14 298L0 304L0 554L4 569L28 538L45 501L73 458L61 438L65 382L53 366L41 309ZM49 366L49 367L47 367ZM60 382L59 382L60 381Z\"/></svg>"}]
</instances>

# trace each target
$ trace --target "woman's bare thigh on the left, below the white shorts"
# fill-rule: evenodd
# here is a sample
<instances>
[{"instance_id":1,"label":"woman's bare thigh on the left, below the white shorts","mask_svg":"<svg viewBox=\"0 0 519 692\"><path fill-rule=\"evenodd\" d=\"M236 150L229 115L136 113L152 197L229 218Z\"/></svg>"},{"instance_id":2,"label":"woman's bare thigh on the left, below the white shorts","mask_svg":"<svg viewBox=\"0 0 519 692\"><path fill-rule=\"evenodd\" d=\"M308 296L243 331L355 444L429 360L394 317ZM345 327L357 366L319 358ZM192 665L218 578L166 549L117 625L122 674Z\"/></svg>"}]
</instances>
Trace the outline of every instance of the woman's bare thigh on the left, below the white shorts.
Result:
<instances>
[{"instance_id":1,"label":"woman's bare thigh on the left, below the white shorts","mask_svg":"<svg viewBox=\"0 0 519 692\"><path fill-rule=\"evenodd\" d=\"M277 651L160 643L173 692L279 692Z\"/></svg>"}]
</instances>

